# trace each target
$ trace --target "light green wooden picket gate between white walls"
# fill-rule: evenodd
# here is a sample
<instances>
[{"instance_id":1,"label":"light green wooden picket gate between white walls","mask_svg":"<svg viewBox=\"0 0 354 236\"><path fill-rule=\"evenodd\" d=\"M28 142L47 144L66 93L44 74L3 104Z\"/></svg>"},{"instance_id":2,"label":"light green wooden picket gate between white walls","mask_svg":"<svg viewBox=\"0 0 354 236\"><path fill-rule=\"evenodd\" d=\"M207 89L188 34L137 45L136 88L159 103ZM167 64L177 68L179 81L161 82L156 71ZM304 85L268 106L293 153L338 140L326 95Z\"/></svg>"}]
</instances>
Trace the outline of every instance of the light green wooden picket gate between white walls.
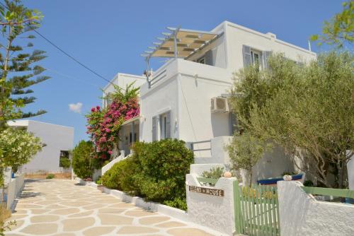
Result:
<instances>
[{"instance_id":1,"label":"light green wooden picket gate between white walls","mask_svg":"<svg viewBox=\"0 0 354 236\"><path fill-rule=\"evenodd\" d=\"M241 187L234 182L236 233L244 235L280 235L278 191L258 185Z\"/></svg>"}]
</instances>

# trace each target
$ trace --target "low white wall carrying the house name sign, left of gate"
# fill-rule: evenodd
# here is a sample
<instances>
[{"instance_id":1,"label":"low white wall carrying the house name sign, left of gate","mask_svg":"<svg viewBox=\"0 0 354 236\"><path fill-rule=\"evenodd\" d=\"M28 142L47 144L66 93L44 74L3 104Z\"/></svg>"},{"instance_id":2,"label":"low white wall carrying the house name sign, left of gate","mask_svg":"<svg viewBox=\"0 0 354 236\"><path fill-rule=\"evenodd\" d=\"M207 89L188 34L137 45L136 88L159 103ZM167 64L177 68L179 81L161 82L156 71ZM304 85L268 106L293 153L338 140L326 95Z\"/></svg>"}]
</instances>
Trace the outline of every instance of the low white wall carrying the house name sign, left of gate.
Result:
<instances>
[{"instance_id":1,"label":"low white wall carrying the house name sign, left of gate","mask_svg":"<svg viewBox=\"0 0 354 236\"><path fill-rule=\"evenodd\" d=\"M211 196L189 191L189 186L202 187L196 179L198 175L186 175L188 217L194 223L207 226L213 230L233 235L234 191L232 185L236 178L220 178L214 189L224 190L224 196Z\"/></svg>"}]
</instances>

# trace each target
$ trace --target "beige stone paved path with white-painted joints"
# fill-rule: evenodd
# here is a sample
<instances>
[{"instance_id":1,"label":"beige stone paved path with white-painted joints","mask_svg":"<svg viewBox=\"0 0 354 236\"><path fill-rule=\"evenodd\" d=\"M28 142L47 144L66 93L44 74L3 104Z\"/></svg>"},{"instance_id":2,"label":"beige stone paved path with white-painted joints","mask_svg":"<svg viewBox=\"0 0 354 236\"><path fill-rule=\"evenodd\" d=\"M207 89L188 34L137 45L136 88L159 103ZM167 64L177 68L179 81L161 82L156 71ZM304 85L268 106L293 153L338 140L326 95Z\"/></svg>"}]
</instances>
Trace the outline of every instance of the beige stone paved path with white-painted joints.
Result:
<instances>
[{"instance_id":1,"label":"beige stone paved path with white-painted joints","mask_svg":"<svg viewBox=\"0 0 354 236\"><path fill-rule=\"evenodd\" d=\"M212 235L72 180L28 180L6 235Z\"/></svg>"}]
</instances>

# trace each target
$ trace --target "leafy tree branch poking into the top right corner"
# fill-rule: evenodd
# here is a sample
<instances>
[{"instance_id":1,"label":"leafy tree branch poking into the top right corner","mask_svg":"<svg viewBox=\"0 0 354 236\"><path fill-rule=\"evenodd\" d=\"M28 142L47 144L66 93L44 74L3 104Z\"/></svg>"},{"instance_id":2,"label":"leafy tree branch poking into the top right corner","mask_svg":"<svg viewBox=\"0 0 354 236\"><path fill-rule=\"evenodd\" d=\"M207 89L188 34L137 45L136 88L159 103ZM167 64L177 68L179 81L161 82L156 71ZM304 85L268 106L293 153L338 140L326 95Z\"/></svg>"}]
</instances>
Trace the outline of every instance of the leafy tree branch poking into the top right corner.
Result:
<instances>
[{"instance_id":1,"label":"leafy tree branch poking into the top right corner","mask_svg":"<svg viewBox=\"0 0 354 236\"><path fill-rule=\"evenodd\" d=\"M321 35L312 35L312 41L319 41L318 44L326 43L343 47L345 42L350 45L354 41L354 1L349 0L343 3L343 11L337 13L330 21L324 22Z\"/></svg>"}]
</instances>

